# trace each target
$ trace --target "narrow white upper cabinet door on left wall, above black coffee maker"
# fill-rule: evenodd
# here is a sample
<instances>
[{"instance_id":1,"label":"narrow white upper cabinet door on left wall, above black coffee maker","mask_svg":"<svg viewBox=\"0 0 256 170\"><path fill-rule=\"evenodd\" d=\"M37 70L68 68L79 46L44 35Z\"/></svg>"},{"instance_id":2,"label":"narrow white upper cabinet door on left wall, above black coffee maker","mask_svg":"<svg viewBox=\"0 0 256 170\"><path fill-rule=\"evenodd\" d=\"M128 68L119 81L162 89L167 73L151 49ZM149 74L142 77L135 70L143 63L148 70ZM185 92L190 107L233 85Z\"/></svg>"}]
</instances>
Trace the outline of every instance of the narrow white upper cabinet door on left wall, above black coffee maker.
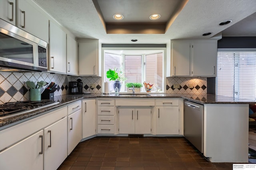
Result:
<instances>
[{"instance_id":1,"label":"narrow white upper cabinet door on left wall, above black coffee maker","mask_svg":"<svg viewBox=\"0 0 256 170\"><path fill-rule=\"evenodd\" d=\"M67 34L67 74L78 74L77 42Z\"/></svg>"}]
</instances>

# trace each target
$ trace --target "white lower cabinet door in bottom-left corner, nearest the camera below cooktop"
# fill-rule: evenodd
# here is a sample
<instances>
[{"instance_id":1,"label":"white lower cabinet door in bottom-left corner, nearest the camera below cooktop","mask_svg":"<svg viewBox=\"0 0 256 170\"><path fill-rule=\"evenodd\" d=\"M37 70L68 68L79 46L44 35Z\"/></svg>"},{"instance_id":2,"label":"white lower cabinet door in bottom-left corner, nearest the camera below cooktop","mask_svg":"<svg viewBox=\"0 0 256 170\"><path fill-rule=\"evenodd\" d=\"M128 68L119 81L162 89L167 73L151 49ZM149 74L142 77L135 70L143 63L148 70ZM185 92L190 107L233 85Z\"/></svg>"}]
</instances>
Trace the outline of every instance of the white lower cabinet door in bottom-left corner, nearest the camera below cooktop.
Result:
<instances>
[{"instance_id":1,"label":"white lower cabinet door in bottom-left corner, nearest the camera below cooktop","mask_svg":"<svg viewBox=\"0 0 256 170\"><path fill-rule=\"evenodd\" d=\"M43 130L0 152L1 170L43 170L43 161Z\"/></svg>"}]
</instances>

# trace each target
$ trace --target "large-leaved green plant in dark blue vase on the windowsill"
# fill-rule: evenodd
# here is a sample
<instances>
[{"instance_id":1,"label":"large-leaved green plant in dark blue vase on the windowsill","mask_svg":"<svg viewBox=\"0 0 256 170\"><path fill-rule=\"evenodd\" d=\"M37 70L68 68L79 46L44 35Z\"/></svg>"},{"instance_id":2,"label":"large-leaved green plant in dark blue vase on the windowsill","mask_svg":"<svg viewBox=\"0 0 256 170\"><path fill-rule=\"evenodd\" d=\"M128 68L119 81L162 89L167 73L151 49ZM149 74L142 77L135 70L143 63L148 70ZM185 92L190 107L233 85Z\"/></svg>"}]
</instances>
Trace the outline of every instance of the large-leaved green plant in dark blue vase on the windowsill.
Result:
<instances>
[{"instance_id":1,"label":"large-leaved green plant in dark blue vase on the windowsill","mask_svg":"<svg viewBox=\"0 0 256 170\"><path fill-rule=\"evenodd\" d=\"M117 86L118 92L120 92L122 81L126 80L126 78L124 77L124 73L121 70L117 72L117 68L114 68L114 69L109 68L108 71L106 72L106 76L107 78L109 78L110 81L111 80L115 81L113 84L113 88L115 89Z\"/></svg>"}]
</instances>

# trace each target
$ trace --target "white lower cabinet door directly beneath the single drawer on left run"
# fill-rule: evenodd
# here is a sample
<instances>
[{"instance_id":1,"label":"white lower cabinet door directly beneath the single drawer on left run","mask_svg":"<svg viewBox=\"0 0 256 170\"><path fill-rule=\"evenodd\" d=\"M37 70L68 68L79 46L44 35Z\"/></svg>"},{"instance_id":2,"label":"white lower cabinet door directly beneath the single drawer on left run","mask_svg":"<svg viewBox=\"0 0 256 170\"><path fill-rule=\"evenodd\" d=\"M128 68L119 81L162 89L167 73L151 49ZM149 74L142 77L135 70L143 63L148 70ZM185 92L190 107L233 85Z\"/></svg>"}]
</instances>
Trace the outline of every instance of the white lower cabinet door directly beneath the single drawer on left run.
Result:
<instances>
[{"instance_id":1,"label":"white lower cabinet door directly beneath the single drawer on left run","mask_svg":"<svg viewBox=\"0 0 256 170\"><path fill-rule=\"evenodd\" d=\"M81 109L68 115L68 155L82 139Z\"/></svg>"}]
</instances>

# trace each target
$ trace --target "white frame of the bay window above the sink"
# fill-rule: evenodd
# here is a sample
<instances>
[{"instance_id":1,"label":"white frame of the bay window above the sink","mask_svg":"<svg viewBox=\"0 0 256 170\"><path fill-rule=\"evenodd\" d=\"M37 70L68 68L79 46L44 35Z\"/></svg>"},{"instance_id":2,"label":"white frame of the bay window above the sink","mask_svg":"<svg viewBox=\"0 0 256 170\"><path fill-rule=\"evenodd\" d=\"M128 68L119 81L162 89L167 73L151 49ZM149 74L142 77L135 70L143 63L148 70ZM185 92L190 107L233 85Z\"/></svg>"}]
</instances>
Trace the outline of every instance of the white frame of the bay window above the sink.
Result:
<instances>
[{"instance_id":1,"label":"white frame of the bay window above the sink","mask_svg":"<svg viewBox=\"0 0 256 170\"><path fill-rule=\"evenodd\" d=\"M160 51L163 53L163 70L162 70L162 76L163 76L163 88L162 88L162 93L166 92L166 47L102 47L101 49L102 55L101 55L101 75L102 75L102 89L104 89L104 75L105 75L105 58L104 58L104 53L105 51L108 53L115 53L114 51L132 51L131 53L123 53L122 54L122 62L124 62L124 56L123 55L142 55L142 63L144 64L144 59L145 55L148 54L153 54L153 53L160 53ZM148 53L135 53L135 51L148 51ZM115 54L120 54L120 53L115 53ZM124 67L124 65L123 65ZM143 67L142 67L143 68ZM144 74L146 71L146 67L142 69L142 80L144 80ZM106 80L105 80L106 81ZM122 87L123 89L123 87ZM122 92L125 93L125 92ZM141 92L143 93L143 92ZM159 93L159 92L151 92L151 93Z\"/></svg>"}]
</instances>

